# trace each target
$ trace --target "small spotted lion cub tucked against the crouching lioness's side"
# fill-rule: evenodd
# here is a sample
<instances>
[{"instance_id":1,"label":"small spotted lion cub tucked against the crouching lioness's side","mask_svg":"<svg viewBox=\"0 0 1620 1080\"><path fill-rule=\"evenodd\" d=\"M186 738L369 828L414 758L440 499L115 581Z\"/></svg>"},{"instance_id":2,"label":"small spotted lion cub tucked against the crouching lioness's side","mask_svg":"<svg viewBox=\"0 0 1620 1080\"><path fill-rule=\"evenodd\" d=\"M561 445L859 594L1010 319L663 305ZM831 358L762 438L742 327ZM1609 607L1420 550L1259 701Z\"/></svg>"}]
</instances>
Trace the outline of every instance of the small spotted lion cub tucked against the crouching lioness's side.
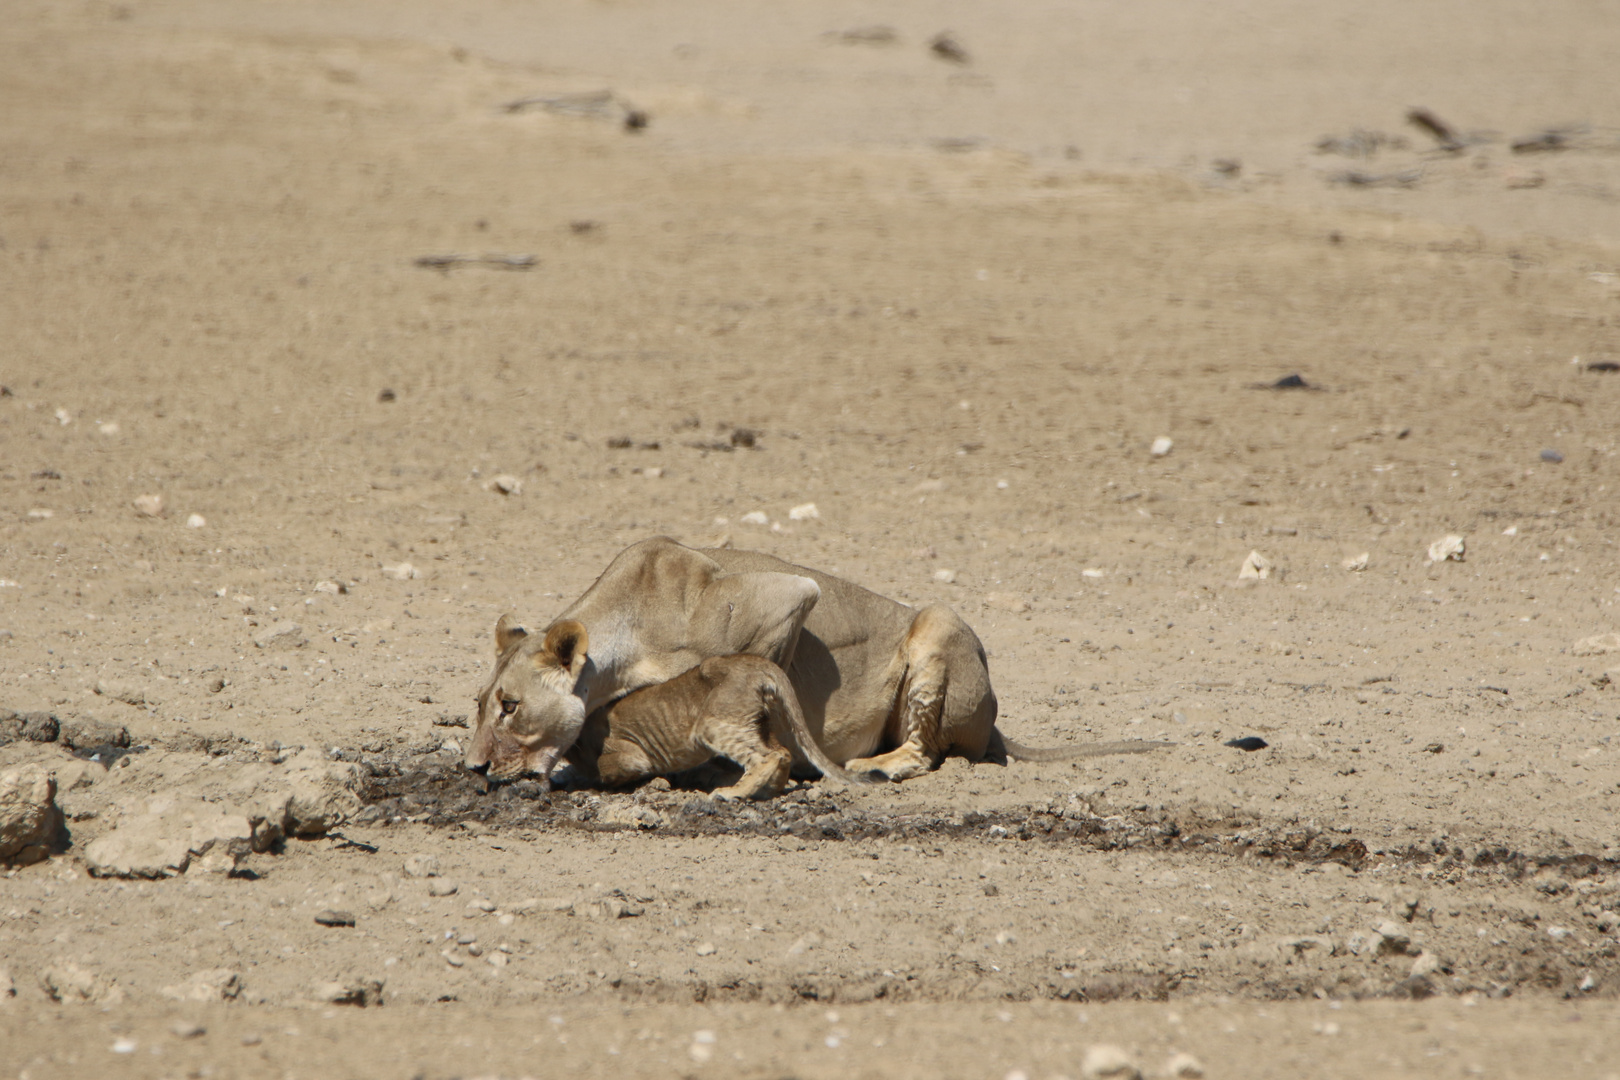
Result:
<instances>
[{"instance_id":1,"label":"small spotted lion cub tucked against the crouching lioness's side","mask_svg":"<svg viewBox=\"0 0 1620 1080\"><path fill-rule=\"evenodd\" d=\"M744 772L714 798L771 798L787 785L794 751L826 777L867 782L816 745L781 667L737 654L710 657L684 675L596 709L564 758L591 780L622 785L693 769L723 755Z\"/></svg>"}]
</instances>

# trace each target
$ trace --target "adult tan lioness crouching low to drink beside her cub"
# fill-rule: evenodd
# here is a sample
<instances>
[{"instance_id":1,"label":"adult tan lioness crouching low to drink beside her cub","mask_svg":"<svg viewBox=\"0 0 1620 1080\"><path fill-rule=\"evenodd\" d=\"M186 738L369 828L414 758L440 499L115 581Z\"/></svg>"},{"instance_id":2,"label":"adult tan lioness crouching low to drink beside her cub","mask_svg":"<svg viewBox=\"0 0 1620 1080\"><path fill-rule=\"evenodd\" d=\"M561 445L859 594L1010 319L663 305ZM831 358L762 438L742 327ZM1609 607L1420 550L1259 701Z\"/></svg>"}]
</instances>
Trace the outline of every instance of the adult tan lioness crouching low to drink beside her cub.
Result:
<instances>
[{"instance_id":1,"label":"adult tan lioness crouching low to drink beside her cub","mask_svg":"<svg viewBox=\"0 0 1620 1080\"><path fill-rule=\"evenodd\" d=\"M919 610L760 552L654 538L619 552L543 635L501 617L467 767L491 771L499 746L496 776L549 782L599 706L732 653L787 672L810 742L850 772L904 780L948 753L1061 761L1158 745L1019 746L996 730L985 649L949 607Z\"/></svg>"}]
</instances>

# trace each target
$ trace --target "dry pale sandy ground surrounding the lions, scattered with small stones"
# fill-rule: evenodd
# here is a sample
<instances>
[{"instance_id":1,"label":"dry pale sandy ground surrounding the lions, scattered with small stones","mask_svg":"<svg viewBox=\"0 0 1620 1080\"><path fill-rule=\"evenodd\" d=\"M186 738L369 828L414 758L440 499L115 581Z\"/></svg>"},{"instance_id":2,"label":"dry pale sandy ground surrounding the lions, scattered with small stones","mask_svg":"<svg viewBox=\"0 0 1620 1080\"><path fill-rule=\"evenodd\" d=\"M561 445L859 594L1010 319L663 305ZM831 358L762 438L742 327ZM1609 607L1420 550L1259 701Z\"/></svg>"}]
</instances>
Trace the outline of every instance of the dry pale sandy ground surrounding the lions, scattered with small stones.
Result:
<instances>
[{"instance_id":1,"label":"dry pale sandy ground surrounding the lions, scattered with small stones","mask_svg":"<svg viewBox=\"0 0 1620 1080\"><path fill-rule=\"evenodd\" d=\"M75 784L0 1065L1612 1075L1620 24L1408 6L13 5L0 706L136 746L0 746ZM659 533L951 604L1021 742L1176 746L481 790L496 617ZM298 746L340 834L86 873Z\"/></svg>"}]
</instances>

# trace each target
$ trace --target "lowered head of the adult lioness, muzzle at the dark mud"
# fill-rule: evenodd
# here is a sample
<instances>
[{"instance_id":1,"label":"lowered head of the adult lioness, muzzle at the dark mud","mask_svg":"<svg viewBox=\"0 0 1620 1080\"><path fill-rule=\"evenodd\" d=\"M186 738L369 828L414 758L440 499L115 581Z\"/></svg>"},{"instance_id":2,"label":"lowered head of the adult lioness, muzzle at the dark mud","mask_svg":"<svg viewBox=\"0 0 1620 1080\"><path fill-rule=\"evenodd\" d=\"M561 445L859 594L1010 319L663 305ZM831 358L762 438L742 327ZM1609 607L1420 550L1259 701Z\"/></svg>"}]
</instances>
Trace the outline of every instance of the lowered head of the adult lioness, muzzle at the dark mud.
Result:
<instances>
[{"instance_id":1,"label":"lowered head of the adult lioness, muzzle at the dark mud","mask_svg":"<svg viewBox=\"0 0 1620 1080\"><path fill-rule=\"evenodd\" d=\"M525 772L551 780L557 759L585 725L585 701L573 693L585 670L590 638L565 619L535 641L510 615L496 623L496 674L478 695L478 722L467 767L509 779Z\"/></svg>"}]
</instances>

